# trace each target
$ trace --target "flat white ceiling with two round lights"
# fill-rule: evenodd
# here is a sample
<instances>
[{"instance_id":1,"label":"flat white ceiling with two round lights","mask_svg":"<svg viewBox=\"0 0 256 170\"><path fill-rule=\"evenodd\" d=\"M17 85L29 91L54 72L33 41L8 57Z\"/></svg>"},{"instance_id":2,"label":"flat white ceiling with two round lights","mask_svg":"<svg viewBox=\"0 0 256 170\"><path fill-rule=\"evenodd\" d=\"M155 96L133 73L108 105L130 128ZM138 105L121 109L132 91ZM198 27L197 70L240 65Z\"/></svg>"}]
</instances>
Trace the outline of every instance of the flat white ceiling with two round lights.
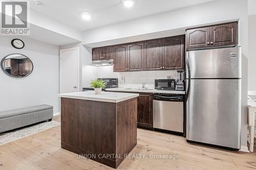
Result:
<instances>
[{"instance_id":1,"label":"flat white ceiling with two round lights","mask_svg":"<svg viewBox=\"0 0 256 170\"><path fill-rule=\"evenodd\" d=\"M215 0L136 0L127 9L122 0L38 0L37 6L31 0L31 8L41 14L54 18L80 31L85 31L113 23L153 15ZM81 12L90 12L93 18L85 21Z\"/></svg>"}]
</instances>

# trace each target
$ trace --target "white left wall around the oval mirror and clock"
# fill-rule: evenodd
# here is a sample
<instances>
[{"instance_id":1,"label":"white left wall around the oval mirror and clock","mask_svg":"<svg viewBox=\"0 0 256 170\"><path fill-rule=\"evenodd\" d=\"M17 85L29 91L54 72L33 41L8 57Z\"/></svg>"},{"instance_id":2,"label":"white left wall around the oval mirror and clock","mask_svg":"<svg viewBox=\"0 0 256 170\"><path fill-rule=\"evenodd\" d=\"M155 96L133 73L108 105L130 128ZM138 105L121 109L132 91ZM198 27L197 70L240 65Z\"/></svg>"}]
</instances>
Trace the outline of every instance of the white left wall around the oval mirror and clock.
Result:
<instances>
[{"instance_id":1,"label":"white left wall around the oval mirror and clock","mask_svg":"<svg viewBox=\"0 0 256 170\"><path fill-rule=\"evenodd\" d=\"M0 70L0 111L49 104L59 112L59 52L58 46L23 37L25 47L11 46L12 36L1 36L0 59L20 53L33 62L32 74L26 78L11 78Z\"/></svg>"}]
</instances>

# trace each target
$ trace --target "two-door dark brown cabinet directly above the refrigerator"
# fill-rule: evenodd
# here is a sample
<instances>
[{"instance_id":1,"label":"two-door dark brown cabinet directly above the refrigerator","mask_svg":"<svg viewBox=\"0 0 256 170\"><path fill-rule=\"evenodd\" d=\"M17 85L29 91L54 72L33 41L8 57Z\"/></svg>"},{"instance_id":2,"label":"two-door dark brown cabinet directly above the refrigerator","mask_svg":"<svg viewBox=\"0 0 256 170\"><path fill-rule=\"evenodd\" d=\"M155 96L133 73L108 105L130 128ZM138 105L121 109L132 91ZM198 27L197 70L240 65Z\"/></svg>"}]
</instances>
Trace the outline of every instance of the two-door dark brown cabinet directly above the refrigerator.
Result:
<instances>
[{"instance_id":1,"label":"two-door dark brown cabinet directly above the refrigerator","mask_svg":"<svg viewBox=\"0 0 256 170\"><path fill-rule=\"evenodd\" d=\"M187 48L214 47L238 44L238 22L189 29L186 31Z\"/></svg>"}]
</instances>

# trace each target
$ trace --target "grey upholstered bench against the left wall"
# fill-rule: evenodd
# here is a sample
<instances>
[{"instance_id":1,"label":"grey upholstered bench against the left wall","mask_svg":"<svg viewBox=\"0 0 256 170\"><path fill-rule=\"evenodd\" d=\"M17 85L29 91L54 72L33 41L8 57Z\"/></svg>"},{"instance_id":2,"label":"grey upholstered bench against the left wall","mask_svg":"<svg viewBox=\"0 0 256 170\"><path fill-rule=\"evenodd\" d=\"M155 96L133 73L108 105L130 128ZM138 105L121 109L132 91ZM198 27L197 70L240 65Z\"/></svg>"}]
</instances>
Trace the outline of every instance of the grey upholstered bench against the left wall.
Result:
<instances>
[{"instance_id":1,"label":"grey upholstered bench against the left wall","mask_svg":"<svg viewBox=\"0 0 256 170\"><path fill-rule=\"evenodd\" d=\"M43 122L51 121L53 107L50 105L32 106L0 112L0 133Z\"/></svg>"}]
</instances>

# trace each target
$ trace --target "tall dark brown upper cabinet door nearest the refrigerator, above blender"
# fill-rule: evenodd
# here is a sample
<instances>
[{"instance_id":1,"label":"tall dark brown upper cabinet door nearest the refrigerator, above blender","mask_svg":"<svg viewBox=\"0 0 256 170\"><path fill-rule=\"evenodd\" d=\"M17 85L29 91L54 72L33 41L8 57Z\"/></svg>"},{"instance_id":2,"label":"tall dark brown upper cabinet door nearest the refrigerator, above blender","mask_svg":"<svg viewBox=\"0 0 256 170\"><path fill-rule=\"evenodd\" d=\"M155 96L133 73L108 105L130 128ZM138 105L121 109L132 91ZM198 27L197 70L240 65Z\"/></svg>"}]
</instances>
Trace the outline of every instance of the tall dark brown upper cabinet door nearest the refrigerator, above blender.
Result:
<instances>
[{"instance_id":1,"label":"tall dark brown upper cabinet door nearest the refrigerator, above blender","mask_svg":"<svg viewBox=\"0 0 256 170\"><path fill-rule=\"evenodd\" d=\"M184 69L184 41L184 35L164 38L162 69Z\"/></svg>"}]
</instances>

